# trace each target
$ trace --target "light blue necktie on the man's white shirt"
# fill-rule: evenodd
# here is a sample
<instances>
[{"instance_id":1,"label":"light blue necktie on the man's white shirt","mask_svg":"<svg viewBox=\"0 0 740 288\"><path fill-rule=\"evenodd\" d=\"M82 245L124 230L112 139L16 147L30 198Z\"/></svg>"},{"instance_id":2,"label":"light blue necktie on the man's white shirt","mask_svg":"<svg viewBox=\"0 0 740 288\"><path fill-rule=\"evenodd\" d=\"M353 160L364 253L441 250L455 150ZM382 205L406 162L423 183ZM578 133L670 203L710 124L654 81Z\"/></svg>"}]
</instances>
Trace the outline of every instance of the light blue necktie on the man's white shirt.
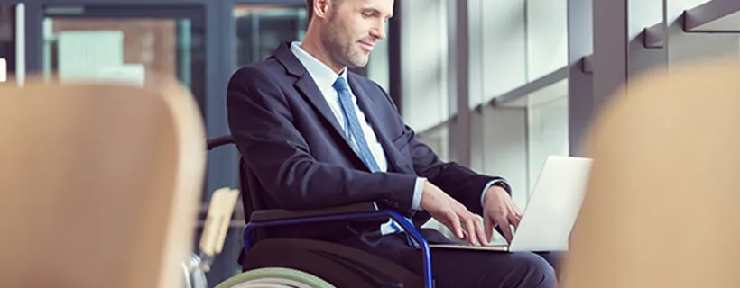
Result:
<instances>
[{"instance_id":1,"label":"light blue necktie on the man's white shirt","mask_svg":"<svg viewBox=\"0 0 740 288\"><path fill-rule=\"evenodd\" d=\"M365 139L365 133L362 131L362 125L360 125L360 120L357 118L355 105L352 103L352 93L349 91L347 80L344 77L338 77L332 86L337 90L339 95L339 106L345 115L349 137L350 139L355 139L357 154L365 162L365 165L370 168L371 172L380 171L380 166L375 161L373 153L370 152L370 146L367 145L367 139Z\"/></svg>"}]
</instances>

